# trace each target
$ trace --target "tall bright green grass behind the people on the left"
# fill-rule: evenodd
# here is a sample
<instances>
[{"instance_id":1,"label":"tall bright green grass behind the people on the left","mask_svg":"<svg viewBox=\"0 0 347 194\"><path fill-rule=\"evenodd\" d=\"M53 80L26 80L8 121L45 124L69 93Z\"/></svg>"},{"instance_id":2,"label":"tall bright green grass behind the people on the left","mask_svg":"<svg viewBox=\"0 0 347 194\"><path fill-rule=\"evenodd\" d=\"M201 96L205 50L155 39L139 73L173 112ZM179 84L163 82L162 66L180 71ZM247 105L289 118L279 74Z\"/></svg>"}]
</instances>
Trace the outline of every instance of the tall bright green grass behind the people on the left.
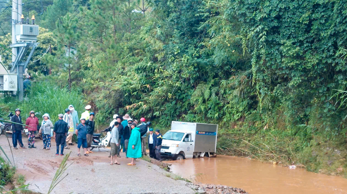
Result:
<instances>
[{"instance_id":1,"label":"tall bright green grass behind the people on the left","mask_svg":"<svg viewBox=\"0 0 347 194\"><path fill-rule=\"evenodd\" d=\"M9 105L9 111L14 112L15 108L21 109L23 121L24 118L29 117L30 111L35 111L39 119L42 119L43 114L48 113L52 122L57 121L58 114L64 114L64 110L69 105L73 105L79 115L84 111L82 93L76 90L69 91L66 87L61 88L49 82L33 83L28 99L23 103L15 101Z\"/></svg>"}]
</instances>

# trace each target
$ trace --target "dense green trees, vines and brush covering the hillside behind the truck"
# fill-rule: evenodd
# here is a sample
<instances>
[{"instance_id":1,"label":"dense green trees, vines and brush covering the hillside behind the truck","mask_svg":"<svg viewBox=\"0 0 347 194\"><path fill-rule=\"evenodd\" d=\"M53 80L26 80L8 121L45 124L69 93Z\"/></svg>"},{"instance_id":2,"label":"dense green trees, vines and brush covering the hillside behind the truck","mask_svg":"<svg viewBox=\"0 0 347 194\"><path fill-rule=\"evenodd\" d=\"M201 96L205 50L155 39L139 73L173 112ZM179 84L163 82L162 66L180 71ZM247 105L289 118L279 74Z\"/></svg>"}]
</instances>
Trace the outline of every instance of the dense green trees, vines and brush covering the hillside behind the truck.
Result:
<instances>
[{"instance_id":1,"label":"dense green trees, vines and brush covering the hillside behind the truck","mask_svg":"<svg viewBox=\"0 0 347 194\"><path fill-rule=\"evenodd\" d=\"M171 120L216 123L219 153L347 176L339 170L347 168L344 1L45 3L41 41L55 49L30 64L39 84L23 113L57 115L68 104L81 111L85 101L97 123L114 113L146 117L163 131Z\"/></svg>"}]
</instances>

